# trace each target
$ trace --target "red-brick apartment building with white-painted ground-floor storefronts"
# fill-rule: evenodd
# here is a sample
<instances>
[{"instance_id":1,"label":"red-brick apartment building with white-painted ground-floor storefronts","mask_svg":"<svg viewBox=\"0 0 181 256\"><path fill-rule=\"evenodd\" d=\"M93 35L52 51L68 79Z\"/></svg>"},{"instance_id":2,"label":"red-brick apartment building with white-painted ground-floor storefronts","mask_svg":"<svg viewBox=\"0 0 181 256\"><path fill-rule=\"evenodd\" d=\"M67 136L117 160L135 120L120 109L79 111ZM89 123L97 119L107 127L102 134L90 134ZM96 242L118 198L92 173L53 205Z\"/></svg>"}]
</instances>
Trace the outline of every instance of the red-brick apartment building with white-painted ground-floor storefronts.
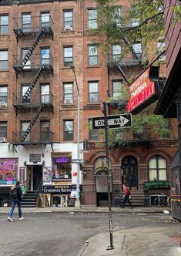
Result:
<instances>
[{"instance_id":1,"label":"red-brick apartment building with white-painted ground-floor storefronts","mask_svg":"<svg viewBox=\"0 0 181 256\"><path fill-rule=\"evenodd\" d=\"M121 5L128 10L127 1ZM96 146L99 133L89 130L89 124L92 117L102 116L100 99L106 101L109 95L116 99L118 86L126 83L124 75L132 79L141 72L142 52L136 43L133 54L122 64L116 68L107 65L101 49L86 34L97 25L96 4L89 0L0 2L2 204L8 198L9 186L20 179L26 190L43 190L51 205L68 205L77 183L77 166L72 163L77 158L78 142L76 79L81 99L80 148L83 140L90 143L89 152L80 154L85 159L79 175L82 204L107 204L106 178L93 175L105 149ZM119 56L120 50L119 45L112 45L112 57ZM71 65L75 66L75 76ZM143 204L146 181L169 181L168 167L177 141L173 133L168 140L158 139L146 137L146 133L141 138L132 135L129 147L109 153L112 199L116 188L121 190L122 183L129 180L137 203ZM152 174L151 178L153 167L156 177ZM163 192L168 190L163 188Z\"/></svg>"}]
</instances>

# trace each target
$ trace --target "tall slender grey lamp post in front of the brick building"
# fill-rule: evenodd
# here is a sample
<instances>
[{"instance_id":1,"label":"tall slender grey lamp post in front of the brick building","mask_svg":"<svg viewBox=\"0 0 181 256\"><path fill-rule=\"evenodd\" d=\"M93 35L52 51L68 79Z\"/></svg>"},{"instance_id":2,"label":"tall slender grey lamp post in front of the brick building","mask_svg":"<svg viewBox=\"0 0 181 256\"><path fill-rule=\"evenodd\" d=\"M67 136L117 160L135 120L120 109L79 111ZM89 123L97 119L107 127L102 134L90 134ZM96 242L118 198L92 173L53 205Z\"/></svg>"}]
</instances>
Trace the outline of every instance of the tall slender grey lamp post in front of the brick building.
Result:
<instances>
[{"instance_id":1,"label":"tall slender grey lamp post in front of the brick building","mask_svg":"<svg viewBox=\"0 0 181 256\"><path fill-rule=\"evenodd\" d=\"M77 83L77 77L75 74L75 66L71 65L70 68L72 69L74 76L75 76L75 84L77 89L77 184L76 184L76 200L75 200L75 208L80 208L80 193L79 193L79 182L80 182L80 93L79 93L79 86Z\"/></svg>"}]
</instances>

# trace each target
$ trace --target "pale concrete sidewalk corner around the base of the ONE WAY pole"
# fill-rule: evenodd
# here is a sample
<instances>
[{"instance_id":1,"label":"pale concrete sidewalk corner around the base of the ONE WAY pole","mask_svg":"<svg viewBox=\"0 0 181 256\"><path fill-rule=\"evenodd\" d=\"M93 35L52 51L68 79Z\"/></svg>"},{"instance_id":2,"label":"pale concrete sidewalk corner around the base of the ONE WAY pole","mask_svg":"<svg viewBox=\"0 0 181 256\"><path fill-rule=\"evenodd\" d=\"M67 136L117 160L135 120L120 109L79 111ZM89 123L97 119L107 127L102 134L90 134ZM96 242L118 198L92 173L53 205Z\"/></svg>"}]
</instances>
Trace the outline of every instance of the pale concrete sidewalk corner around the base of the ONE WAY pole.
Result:
<instances>
[{"instance_id":1,"label":"pale concrete sidewalk corner around the base of the ONE WAY pole","mask_svg":"<svg viewBox=\"0 0 181 256\"><path fill-rule=\"evenodd\" d=\"M82 256L179 256L180 225L164 224L156 227L135 227L113 231L113 250L106 251L110 245L109 233L97 234L85 241L79 255Z\"/></svg>"}]
</instances>

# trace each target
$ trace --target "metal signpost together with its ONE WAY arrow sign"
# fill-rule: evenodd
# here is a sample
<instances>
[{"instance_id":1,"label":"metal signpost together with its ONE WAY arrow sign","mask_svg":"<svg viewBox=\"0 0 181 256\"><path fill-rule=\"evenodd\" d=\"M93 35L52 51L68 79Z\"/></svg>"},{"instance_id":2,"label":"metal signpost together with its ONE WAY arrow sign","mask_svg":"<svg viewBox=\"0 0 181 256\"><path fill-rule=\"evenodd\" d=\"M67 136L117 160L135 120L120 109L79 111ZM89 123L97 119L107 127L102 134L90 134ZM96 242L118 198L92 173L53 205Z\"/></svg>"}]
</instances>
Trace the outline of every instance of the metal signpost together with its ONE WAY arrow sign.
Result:
<instances>
[{"instance_id":1,"label":"metal signpost together with its ONE WAY arrow sign","mask_svg":"<svg viewBox=\"0 0 181 256\"><path fill-rule=\"evenodd\" d=\"M108 179L108 204L109 204L109 236L110 245L107 250L113 250L113 239L112 239L112 210L111 210L111 177L112 170L109 168L109 145L108 145L108 128L128 128L132 127L132 115L131 114L120 114L116 116L107 116L107 103L102 103L103 117L92 118L92 130L105 130L105 143L106 143L106 162L107 167L101 170L96 170L95 175L107 175Z\"/></svg>"}]
</instances>

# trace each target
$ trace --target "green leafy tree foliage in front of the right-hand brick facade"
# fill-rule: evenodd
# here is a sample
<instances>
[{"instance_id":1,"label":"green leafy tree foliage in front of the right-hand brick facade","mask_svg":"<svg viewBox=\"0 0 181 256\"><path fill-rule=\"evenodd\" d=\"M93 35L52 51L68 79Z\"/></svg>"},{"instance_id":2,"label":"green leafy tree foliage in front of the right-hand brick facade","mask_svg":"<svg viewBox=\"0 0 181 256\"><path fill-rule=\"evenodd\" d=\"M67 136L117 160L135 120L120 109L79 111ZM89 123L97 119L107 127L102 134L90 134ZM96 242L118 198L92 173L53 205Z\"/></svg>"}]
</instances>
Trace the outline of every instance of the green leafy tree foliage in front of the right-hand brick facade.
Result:
<instances>
[{"instance_id":1,"label":"green leafy tree foliage in front of the right-hand brick facade","mask_svg":"<svg viewBox=\"0 0 181 256\"><path fill-rule=\"evenodd\" d=\"M163 0L130 0L129 9L116 5L116 1L113 0L96 0L96 3L99 26L97 29L92 29L88 35L94 36L93 42L99 44L108 56L108 61L114 62L112 45L120 44L123 49L120 59L116 59L116 63L113 63L117 65L128 52L132 51L132 45L139 41L142 43L142 61L146 66L149 47L153 42L164 39ZM178 10L176 13L179 13ZM156 55L157 52L153 58ZM125 89L121 85L119 102L122 103L125 100L128 100L128 87ZM109 102L112 102L112 98ZM155 104L152 104L141 113L132 116L131 129L109 130L109 147L126 147L127 141L132 140L133 134L137 134L139 138L144 131L149 130L152 130L153 134L156 133L156 139L168 137L169 120L153 114L154 108ZM118 109L119 113L122 111L125 112L126 109Z\"/></svg>"}]
</instances>

